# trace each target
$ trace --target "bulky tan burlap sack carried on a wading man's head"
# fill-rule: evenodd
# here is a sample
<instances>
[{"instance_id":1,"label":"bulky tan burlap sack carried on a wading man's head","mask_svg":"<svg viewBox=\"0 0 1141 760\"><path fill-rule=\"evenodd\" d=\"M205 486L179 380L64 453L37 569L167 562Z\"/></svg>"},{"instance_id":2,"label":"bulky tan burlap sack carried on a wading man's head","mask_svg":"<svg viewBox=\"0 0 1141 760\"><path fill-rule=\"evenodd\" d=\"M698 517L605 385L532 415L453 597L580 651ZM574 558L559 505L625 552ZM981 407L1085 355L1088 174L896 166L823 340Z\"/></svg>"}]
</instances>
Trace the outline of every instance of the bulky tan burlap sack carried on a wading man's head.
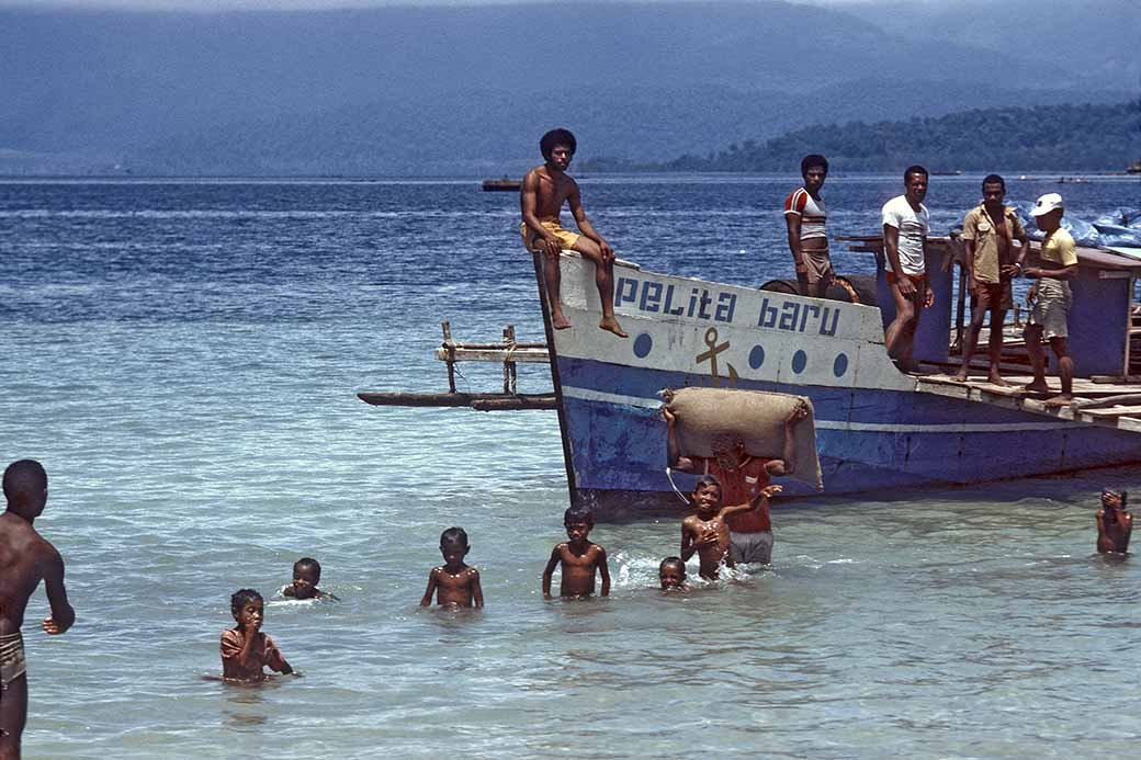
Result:
<instances>
[{"instance_id":1,"label":"bulky tan burlap sack carried on a wading man's head","mask_svg":"<svg viewBox=\"0 0 1141 760\"><path fill-rule=\"evenodd\" d=\"M713 438L735 434L751 456L784 456L784 422L798 402L808 404L809 414L795 430L796 469L792 477L816 490L824 487L820 459L816 453L812 402L803 396L726 388L679 388L663 390L662 397L678 417L678 446L682 456L712 456Z\"/></svg>"}]
</instances>

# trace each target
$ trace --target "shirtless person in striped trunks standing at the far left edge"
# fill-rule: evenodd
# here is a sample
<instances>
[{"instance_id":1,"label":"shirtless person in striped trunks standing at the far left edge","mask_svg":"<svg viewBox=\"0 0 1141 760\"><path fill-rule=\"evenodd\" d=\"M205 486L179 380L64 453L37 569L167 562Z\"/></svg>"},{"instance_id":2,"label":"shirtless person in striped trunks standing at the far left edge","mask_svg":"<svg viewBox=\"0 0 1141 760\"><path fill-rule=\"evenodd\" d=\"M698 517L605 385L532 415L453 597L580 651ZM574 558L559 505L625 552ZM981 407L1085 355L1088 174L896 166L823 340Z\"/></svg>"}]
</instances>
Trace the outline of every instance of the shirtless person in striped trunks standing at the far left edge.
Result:
<instances>
[{"instance_id":1,"label":"shirtless person in striped trunks standing at the far left edge","mask_svg":"<svg viewBox=\"0 0 1141 760\"><path fill-rule=\"evenodd\" d=\"M0 515L0 759L19 758L27 722L27 676L21 625L27 599L43 581L51 617L43 632L58 636L75 622L64 588L64 560L32 523L48 501L48 474L39 462L24 459L3 471L8 510Z\"/></svg>"}]
</instances>

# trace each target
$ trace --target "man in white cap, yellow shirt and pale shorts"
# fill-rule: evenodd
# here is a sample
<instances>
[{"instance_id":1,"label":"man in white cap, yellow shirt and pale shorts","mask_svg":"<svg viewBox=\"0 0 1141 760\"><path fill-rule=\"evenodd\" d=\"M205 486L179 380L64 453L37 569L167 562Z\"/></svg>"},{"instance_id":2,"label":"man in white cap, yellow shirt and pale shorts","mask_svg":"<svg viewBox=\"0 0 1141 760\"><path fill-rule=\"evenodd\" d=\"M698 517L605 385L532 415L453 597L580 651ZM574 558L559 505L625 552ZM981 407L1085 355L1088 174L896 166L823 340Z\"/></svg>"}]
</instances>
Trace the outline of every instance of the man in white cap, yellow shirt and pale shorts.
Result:
<instances>
[{"instance_id":1,"label":"man in white cap, yellow shirt and pale shorts","mask_svg":"<svg viewBox=\"0 0 1141 760\"><path fill-rule=\"evenodd\" d=\"M1066 339L1069 335L1067 321L1073 300L1069 281L1077 276L1077 246L1070 234L1061 228L1062 196L1058 193L1046 193L1039 197L1030 210L1030 216L1046 236L1042 240L1038 266L1022 269L1027 277L1038 281L1026 294L1026 302L1033 302L1033 306L1022 337L1034 366L1034 381L1025 389L1050 393L1050 387L1046 386L1046 356L1042 350L1042 339L1045 338L1058 357L1062 391L1044 403L1049 406L1065 406L1074 398L1074 361L1069 356Z\"/></svg>"}]
</instances>

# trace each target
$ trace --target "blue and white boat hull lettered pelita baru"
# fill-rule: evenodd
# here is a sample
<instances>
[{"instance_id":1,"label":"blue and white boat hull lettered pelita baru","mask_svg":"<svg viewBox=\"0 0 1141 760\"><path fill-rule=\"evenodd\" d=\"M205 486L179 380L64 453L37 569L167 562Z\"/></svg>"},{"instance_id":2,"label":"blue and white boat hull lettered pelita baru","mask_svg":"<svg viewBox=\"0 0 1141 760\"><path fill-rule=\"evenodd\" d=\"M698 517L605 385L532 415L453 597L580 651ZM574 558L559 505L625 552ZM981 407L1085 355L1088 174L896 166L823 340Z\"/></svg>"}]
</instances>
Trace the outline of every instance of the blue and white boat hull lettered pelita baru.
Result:
<instances>
[{"instance_id":1,"label":"blue and white boat hull lettered pelita baru","mask_svg":"<svg viewBox=\"0 0 1141 760\"><path fill-rule=\"evenodd\" d=\"M889 359L877 307L625 266L615 281L630 338L597 328L593 266L565 256L561 300L574 326L549 340L572 498L600 511L677 504L658 394L683 386L811 398L827 494L1141 461L1135 432L921 389Z\"/></svg>"}]
</instances>

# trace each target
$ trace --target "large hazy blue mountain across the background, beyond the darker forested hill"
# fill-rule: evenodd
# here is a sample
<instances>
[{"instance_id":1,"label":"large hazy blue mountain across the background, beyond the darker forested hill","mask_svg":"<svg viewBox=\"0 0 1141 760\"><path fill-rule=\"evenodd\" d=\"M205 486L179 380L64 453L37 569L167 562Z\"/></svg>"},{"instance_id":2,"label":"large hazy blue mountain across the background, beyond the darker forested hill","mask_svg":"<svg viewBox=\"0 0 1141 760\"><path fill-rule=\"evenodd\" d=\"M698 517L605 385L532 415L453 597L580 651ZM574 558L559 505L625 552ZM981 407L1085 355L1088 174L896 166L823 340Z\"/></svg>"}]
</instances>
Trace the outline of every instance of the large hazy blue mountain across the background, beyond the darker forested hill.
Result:
<instances>
[{"instance_id":1,"label":"large hazy blue mountain across the background, beyond the darker forested hill","mask_svg":"<svg viewBox=\"0 0 1141 760\"><path fill-rule=\"evenodd\" d=\"M1135 92L1041 45L933 42L843 8L0 8L0 172L499 175L560 124L582 157L662 160L806 123ZM1128 71L1133 52L1099 55Z\"/></svg>"}]
</instances>

